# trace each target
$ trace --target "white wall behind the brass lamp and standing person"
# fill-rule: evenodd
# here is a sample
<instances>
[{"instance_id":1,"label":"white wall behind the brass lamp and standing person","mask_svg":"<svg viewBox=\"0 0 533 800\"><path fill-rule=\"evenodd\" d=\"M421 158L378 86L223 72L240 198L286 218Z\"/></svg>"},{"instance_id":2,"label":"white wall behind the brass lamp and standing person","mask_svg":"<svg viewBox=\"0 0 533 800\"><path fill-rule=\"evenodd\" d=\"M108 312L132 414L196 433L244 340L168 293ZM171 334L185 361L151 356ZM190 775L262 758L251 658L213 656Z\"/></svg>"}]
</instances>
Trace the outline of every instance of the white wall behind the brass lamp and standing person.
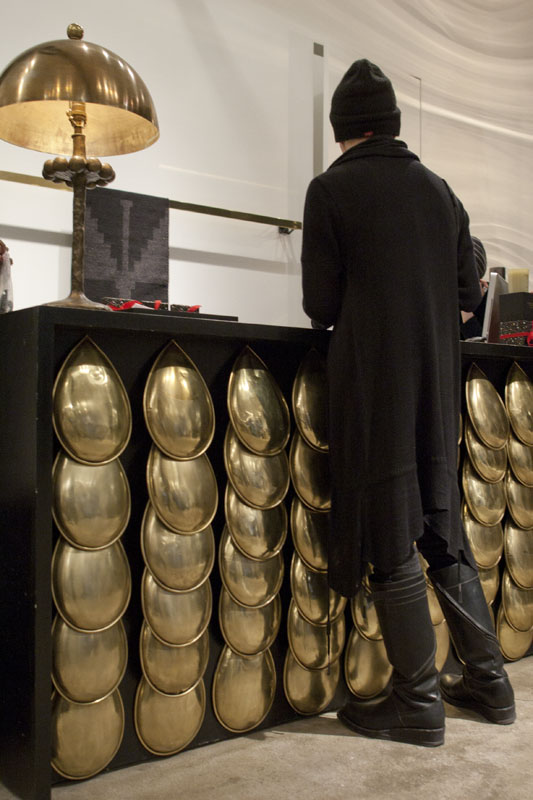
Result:
<instances>
[{"instance_id":1,"label":"white wall behind the brass lamp and standing person","mask_svg":"<svg viewBox=\"0 0 533 800\"><path fill-rule=\"evenodd\" d=\"M331 92L367 57L391 76L402 137L461 197L489 264L531 266L531 0L26 0L4 11L0 69L74 21L137 70L159 116L155 145L110 159L115 188L301 219L322 124L324 166L338 152ZM39 175L47 157L0 142L0 170ZM68 294L71 229L69 193L0 182L16 308ZM300 244L298 232L171 210L170 300L307 326Z\"/></svg>"}]
</instances>

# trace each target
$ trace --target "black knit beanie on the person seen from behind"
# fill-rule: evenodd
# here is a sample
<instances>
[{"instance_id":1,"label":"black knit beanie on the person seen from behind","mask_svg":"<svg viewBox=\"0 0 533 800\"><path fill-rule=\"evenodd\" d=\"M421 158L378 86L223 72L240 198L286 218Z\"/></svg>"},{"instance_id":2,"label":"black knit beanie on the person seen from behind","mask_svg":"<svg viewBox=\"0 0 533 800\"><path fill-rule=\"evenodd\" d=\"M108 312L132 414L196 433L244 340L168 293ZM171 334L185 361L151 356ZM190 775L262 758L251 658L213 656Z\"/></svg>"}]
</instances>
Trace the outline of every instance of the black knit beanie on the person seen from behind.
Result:
<instances>
[{"instance_id":1,"label":"black knit beanie on the person seen from behind","mask_svg":"<svg viewBox=\"0 0 533 800\"><path fill-rule=\"evenodd\" d=\"M336 142L370 134L400 133L400 109L392 83L366 58L354 61L335 89L329 115Z\"/></svg>"}]
</instances>

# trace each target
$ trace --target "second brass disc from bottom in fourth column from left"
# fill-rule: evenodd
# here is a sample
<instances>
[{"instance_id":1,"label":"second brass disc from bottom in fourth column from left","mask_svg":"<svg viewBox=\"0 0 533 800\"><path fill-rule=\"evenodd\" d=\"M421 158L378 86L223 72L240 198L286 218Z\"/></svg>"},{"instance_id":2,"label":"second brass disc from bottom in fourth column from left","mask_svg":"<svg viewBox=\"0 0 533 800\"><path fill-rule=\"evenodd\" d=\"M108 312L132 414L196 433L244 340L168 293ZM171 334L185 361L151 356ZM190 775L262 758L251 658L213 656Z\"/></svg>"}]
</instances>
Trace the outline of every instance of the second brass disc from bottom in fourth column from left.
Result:
<instances>
[{"instance_id":1,"label":"second brass disc from bottom in fourth column from left","mask_svg":"<svg viewBox=\"0 0 533 800\"><path fill-rule=\"evenodd\" d=\"M287 616L287 636L291 652L300 666L305 669L324 669L328 663L333 664L341 656L346 636L344 614L332 623L328 645L327 626L308 622L298 611L294 600L291 600Z\"/></svg>"}]
</instances>

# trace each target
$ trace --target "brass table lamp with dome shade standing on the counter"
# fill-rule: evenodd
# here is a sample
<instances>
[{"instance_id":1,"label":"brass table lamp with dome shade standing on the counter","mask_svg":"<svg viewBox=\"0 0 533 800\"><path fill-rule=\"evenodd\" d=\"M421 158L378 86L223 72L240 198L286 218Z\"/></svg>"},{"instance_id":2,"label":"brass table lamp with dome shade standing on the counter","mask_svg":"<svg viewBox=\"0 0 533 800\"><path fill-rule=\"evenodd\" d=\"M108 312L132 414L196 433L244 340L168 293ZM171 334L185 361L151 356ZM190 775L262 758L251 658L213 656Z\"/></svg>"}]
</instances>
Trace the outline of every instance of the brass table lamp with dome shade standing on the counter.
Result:
<instances>
[{"instance_id":1,"label":"brass table lamp with dome shade standing on the counter","mask_svg":"<svg viewBox=\"0 0 533 800\"><path fill-rule=\"evenodd\" d=\"M59 153L43 177L72 187L71 293L50 305L107 308L83 286L85 191L110 183L115 173L97 156L142 150L159 137L146 85L123 59L69 25L68 39L45 42L17 56L0 75L0 138Z\"/></svg>"}]
</instances>

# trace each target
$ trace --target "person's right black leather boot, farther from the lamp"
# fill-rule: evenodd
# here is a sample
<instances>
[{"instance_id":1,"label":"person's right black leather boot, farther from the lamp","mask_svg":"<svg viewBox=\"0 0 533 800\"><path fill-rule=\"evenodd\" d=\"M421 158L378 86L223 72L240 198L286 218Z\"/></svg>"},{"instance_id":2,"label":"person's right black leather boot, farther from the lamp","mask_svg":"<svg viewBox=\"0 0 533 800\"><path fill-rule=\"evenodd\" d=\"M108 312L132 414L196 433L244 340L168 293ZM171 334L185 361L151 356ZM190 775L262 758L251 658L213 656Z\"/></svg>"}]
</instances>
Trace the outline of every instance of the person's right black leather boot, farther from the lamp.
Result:
<instances>
[{"instance_id":1,"label":"person's right black leather boot, farther from the lamp","mask_svg":"<svg viewBox=\"0 0 533 800\"><path fill-rule=\"evenodd\" d=\"M477 571L467 564L454 564L428 576L464 664L462 675L441 676L443 699L499 725L514 722L513 688Z\"/></svg>"}]
</instances>

